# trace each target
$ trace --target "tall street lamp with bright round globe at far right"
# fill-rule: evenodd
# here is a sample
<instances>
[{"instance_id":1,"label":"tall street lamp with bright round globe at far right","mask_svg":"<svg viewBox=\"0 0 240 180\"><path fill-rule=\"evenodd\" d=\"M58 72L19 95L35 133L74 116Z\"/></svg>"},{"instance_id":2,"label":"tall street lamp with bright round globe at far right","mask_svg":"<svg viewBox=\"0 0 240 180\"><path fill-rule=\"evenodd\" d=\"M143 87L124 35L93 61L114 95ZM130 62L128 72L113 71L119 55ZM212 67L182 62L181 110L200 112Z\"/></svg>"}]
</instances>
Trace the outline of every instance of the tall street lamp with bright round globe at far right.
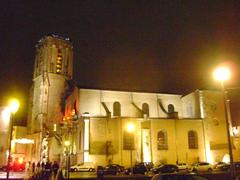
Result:
<instances>
[{"instance_id":1,"label":"tall street lamp with bright round globe at far right","mask_svg":"<svg viewBox=\"0 0 240 180\"><path fill-rule=\"evenodd\" d=\"M229 150L229 156L230 156L230 169L231 169L231 179L235 178L235 168L233 165L233 153L232 153L232 143L231 143L231 137L230 137L230 112L228 107L228 97L227 92L224 87L224 81L229 80L231 77L231 72L227 67L219 67L213 72L213 76L217 81L220 81L221 83L221 90L224 100L224 112L225 112L225 120L226 120L226 128L227 128L227 140L228 140L228 150Z\"/></svg>"}]
</instances>

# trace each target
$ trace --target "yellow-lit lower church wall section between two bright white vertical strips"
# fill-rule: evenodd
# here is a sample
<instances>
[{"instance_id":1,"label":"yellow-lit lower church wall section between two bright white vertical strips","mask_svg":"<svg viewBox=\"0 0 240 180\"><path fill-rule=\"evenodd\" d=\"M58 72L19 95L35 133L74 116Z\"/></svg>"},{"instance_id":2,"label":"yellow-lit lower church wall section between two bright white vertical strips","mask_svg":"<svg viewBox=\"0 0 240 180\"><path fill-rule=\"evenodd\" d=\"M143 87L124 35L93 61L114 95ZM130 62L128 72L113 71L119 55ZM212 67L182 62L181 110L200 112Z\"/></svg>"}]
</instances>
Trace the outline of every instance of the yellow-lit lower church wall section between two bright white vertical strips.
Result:
<instances>
[{"instance_id":1,"label":"yellow-lit lower church wall section between two bright white vertical strips","mask_svg":"<svg viewBox=\"0 0 240 180\"><path fill-rule=\"evenodd\" d=\"M108 163L130 166L130 149L124 149L126 126L133 123L133 163L141 162L141 120L136 118L91 118L90 160L98 165Z\"/></svg>"}]
</instances>

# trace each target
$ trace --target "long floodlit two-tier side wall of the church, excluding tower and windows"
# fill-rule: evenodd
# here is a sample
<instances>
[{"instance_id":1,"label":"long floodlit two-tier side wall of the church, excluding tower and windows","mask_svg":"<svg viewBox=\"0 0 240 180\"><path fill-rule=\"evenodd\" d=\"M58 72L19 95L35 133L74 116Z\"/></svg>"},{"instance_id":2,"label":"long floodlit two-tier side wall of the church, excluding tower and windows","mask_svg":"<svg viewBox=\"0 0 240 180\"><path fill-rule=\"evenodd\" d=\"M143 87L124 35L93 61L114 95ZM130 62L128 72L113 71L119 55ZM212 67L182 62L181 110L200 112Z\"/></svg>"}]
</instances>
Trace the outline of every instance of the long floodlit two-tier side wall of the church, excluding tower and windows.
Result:
<instances>
[{"instance_id":1,"label":"long floodlit two-tier side wall of the church, excluding tower and windows","mask_svg":"<svg viewBox=\"0 0 240 180\"><path fill-rule=\"evenodd\" d=\"M150 156L154 163L176 163L177 161L193 163L210 161L210 159L212 162L217 161L217 157L209 159L211 156L209 152L211 151L209 151L210 143L208 142L210 142L209 140L220 140L220 143L224 143L224 133L220 138L214 134L217 131L226 132L225 123L224 120L219 121L216 129L216 124L214 125L215 117L209 116L205 107L206 102L201 102L200 96L203 92L204 98L202 99L216 101L219 111L216 113L216 117L223 118L222 102L219 101L221 97L214 91L197 90L182 97L171 94L79 89L80 115L88 112L90 116L90 160L96 164L104 165L109 163L110 159L111 162L130 166L130 150L124 150L124 129L127 122L133 122L136 126L134 137L136 144L132 151L134 163L144 159L143 144L146 142L142 140L143 129L145 129L145 133L150 132ZM169 104L173 104L179 117L167 118L166 113L159 107L158 99L161 99L165 109ZM121 105L121 116L119 117L113 116L114 102L119 102ZM149 105L149 117L139 117L138 110L132 102L139 109L142 109L143 103L147 103ZM102 103L104 103L105 108ZM109 111L111 115L107 116L106 111ZM168 148L165 150L157 148L157 133L160 130L167 132ZM196 149L189 149L189 131L194 131L197 134L198 147ZM109 142L111 142L111 158L106 153L107 143ZM214 153L217 156L219 154L222 156L226 151L219 149Z\"/></svg>"}]
</instances>

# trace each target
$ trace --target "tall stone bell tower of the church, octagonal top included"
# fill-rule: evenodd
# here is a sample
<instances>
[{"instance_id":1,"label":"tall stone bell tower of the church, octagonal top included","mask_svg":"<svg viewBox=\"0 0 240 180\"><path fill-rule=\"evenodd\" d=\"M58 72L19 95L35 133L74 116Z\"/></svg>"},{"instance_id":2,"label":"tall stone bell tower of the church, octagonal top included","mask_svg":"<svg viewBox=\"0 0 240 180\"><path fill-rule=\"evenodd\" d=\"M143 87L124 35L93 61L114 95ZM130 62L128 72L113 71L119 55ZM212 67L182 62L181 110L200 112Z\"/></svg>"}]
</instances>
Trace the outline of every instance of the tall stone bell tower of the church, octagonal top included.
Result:
<instances>
[{"instance_id":1,"label":"tall stone bell tower of the church, octagonal top included","mask_svg":"<svg viewBox=\"0 0 240 180\"><path fill-rule=\"evenodd\" d=\"M63 119L66 82L72 79L73 46L68 38L50 35L36 44L30 107L30 133L49 132Z\"/></svg>"}]
</instances>

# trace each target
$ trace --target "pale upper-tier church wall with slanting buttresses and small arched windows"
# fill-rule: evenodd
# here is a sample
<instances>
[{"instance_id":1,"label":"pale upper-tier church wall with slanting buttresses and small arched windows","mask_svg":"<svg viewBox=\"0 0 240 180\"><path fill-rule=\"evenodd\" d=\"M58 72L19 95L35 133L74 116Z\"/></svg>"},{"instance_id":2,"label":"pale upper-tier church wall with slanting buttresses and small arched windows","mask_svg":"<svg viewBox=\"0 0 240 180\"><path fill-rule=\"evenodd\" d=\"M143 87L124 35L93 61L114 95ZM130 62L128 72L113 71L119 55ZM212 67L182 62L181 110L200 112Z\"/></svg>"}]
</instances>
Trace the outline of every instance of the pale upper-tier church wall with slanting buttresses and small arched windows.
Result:
<instances>
[{"instance_id":1,"label":"pale upper-tier church wall with slanting buttresses and small arched windows","mask_svg":"<svg viewBox=\"0 0 240 180\"><path fill-rule=\"evenodd\" d=\"M167 115L158 105L158 99L161 99L166 110L169 104L173 104L179 117L182 117L181 95L92 89L80 89L79 91L80 114L89 112L91 116L105 116L106 111L101 105L101 102L104 102L113 115L113 104L114 102L119 102L121 104L122 117L138 117L138 111L132 105L132 102L134 102L140 109L142 109L143 103L147 103L149 106L149 117L166 118Z\"/></svg>"}]
</instances>

